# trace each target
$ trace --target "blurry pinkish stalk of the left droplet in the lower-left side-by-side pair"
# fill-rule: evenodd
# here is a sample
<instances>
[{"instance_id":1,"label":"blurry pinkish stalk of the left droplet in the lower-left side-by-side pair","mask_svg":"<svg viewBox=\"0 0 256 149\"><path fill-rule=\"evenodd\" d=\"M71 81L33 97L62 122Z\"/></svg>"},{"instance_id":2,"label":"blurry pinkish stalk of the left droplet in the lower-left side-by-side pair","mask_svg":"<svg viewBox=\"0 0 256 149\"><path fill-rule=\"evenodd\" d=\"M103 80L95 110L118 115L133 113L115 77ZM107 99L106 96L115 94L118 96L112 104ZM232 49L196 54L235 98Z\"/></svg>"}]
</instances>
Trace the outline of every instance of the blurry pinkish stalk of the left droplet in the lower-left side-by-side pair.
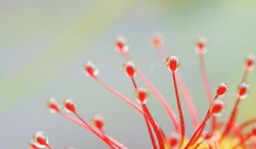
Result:
<instances>
[{"instance_id":1,"label":"blurry pinkish stalk of the left droplet in the lower-left side-by-side pair","mask_svg":"<svg viewBox=\"0 0 256 149\"><path fill-rule=\"evenodd\" d=\"M70 120L71 122L73 123L76 123L78 124L79 126L83 127L84 129L88 129L90 131L90 129L88 128L87 125L84 125L84 123L81 123L80 121L78 121L77 119L71 117L70 115L64 113L64 112L59 112L59 114L62 116L62 117L66 117L68 120ZM97 131L97 134L99 135L102 135L101 132ZM111 143L113 143L114 146L117 146L118 148L127 148L125 146L123 146L121 143L119 143L119 141L117 140L114 140L113 138L111 138L110 136L108 136L107 134L104 134L106 138L108 138L108 140L111 141Z\"/></svg>"}]
</instances>

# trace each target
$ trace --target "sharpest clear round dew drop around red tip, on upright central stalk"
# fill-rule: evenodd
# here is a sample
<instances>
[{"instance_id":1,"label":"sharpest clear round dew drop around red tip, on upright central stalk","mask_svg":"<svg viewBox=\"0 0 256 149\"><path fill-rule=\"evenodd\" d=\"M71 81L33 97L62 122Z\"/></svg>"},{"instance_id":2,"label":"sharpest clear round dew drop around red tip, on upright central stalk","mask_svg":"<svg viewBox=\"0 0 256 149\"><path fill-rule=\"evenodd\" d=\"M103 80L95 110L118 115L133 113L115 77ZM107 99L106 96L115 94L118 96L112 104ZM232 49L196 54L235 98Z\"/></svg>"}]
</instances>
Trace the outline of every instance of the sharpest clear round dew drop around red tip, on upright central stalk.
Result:
<instances>
[{"instance_id":1,"label":"sharpest clear round dew drop around red tip, on upright central stalk","mask_svg":"<svg viewBox=\"0 0 256 149\"><path fill-rule=\"evenodd\" d=\"M166 58L166 67L173 73L177 72L178 68L180 67L180 59L177 55L172 54Z\"/></svg>"}]
</instances>

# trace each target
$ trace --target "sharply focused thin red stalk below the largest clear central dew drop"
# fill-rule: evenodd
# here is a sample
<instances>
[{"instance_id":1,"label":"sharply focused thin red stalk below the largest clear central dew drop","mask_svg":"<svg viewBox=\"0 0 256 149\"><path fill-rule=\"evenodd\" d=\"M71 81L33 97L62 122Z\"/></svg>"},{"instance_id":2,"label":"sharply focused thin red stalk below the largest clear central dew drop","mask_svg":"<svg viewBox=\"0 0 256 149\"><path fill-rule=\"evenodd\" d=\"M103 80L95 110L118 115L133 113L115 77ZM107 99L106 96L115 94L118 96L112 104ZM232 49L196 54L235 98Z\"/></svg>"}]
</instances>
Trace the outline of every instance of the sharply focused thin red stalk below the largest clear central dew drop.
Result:
<instances>
[{"instance_id":1,"label":"sharply focused thin red stalk below the largest clear central dew drop","mask_svg":"<svg viewBox=\"0 0 256 149\"><path fill-rule=\"evenodd\" d=\"M178 91L177 91L175 72L172 72L172 80L173 80L173 86L175 89L177 110L178 110L178 115L179 115L180 125L181 125L181 141L179 142L179 147L181 147L181 146L183 146L183 141L184 141L184 137L185 137L185 123L184 123L184 117L183 117L183 110L182 110L182 106L181 106Z\"/></svg>"}]
</instances>

